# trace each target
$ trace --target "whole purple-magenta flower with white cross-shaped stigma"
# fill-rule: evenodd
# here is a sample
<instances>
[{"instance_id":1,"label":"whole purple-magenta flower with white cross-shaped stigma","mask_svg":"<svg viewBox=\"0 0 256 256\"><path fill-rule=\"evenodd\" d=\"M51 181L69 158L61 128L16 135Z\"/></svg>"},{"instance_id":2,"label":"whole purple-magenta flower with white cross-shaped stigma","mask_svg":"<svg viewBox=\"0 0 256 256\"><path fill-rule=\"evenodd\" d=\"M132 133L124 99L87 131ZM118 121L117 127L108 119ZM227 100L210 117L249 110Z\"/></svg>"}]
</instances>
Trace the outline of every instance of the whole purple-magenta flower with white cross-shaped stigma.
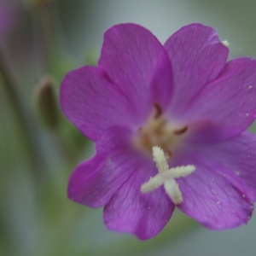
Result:
<instances>
[{"instance_id":1,"label":"whole purple-magenta flower with white cross-shaped stigma","mask_svg":"<svg viewBox=\"0 0 256 256\"><path fill-rule=\"evenodd\" d=\"M142 26L104 35L98 67L61 84L61 108L96 155L68 196L104 207L110 230L157 235L175 207L213 230L247 223L256 200L256 60L227 61L209 26L184 26L162 45Z\"/></svg>"}]
</instances>

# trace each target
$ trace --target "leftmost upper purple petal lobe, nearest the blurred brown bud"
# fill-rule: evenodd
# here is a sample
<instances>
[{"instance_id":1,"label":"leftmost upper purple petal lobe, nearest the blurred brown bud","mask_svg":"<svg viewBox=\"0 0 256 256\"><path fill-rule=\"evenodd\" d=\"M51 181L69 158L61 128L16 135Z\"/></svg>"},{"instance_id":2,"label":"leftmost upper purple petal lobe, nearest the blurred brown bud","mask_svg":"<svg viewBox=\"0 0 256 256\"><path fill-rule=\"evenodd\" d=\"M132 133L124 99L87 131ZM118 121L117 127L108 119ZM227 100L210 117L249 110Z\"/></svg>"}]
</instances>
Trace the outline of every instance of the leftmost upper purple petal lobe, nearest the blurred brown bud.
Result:
<instances>
[{"instance_id":1,"label":"leftmost upper purple petal lobe, nearest the blurred brown bud","mask_svg":"<svg viewBox=\"0 0 256 256\"><path fill-rule=\"evenodd\" d=\"M110 126L136 122L127 97L98 67L85 66L67 74L61 84L61 108L92 140Z\"/></svg>"}]
</instances>

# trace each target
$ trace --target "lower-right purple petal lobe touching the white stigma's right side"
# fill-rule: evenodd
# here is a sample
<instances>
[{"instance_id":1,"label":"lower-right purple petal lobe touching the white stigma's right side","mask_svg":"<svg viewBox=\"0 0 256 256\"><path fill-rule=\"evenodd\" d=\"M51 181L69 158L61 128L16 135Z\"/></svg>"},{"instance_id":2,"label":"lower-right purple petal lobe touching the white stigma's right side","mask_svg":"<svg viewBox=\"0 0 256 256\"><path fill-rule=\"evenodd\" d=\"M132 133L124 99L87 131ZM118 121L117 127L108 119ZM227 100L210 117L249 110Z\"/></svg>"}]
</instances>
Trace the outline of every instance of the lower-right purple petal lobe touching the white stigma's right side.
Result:
<instances>
[{"instance_id":1,"label":"lower-right purple petal lobe touching the white stigma's right side","mask_svg":"<svg viewBox=\"0 0 256 256\"><path fill-rule=\"evenodd\" d=\"M184 199L179 208L213 230L246 224L253 204L213 168L196 166L197 172L179 183Z\"/></svg>"}]
</instances>

